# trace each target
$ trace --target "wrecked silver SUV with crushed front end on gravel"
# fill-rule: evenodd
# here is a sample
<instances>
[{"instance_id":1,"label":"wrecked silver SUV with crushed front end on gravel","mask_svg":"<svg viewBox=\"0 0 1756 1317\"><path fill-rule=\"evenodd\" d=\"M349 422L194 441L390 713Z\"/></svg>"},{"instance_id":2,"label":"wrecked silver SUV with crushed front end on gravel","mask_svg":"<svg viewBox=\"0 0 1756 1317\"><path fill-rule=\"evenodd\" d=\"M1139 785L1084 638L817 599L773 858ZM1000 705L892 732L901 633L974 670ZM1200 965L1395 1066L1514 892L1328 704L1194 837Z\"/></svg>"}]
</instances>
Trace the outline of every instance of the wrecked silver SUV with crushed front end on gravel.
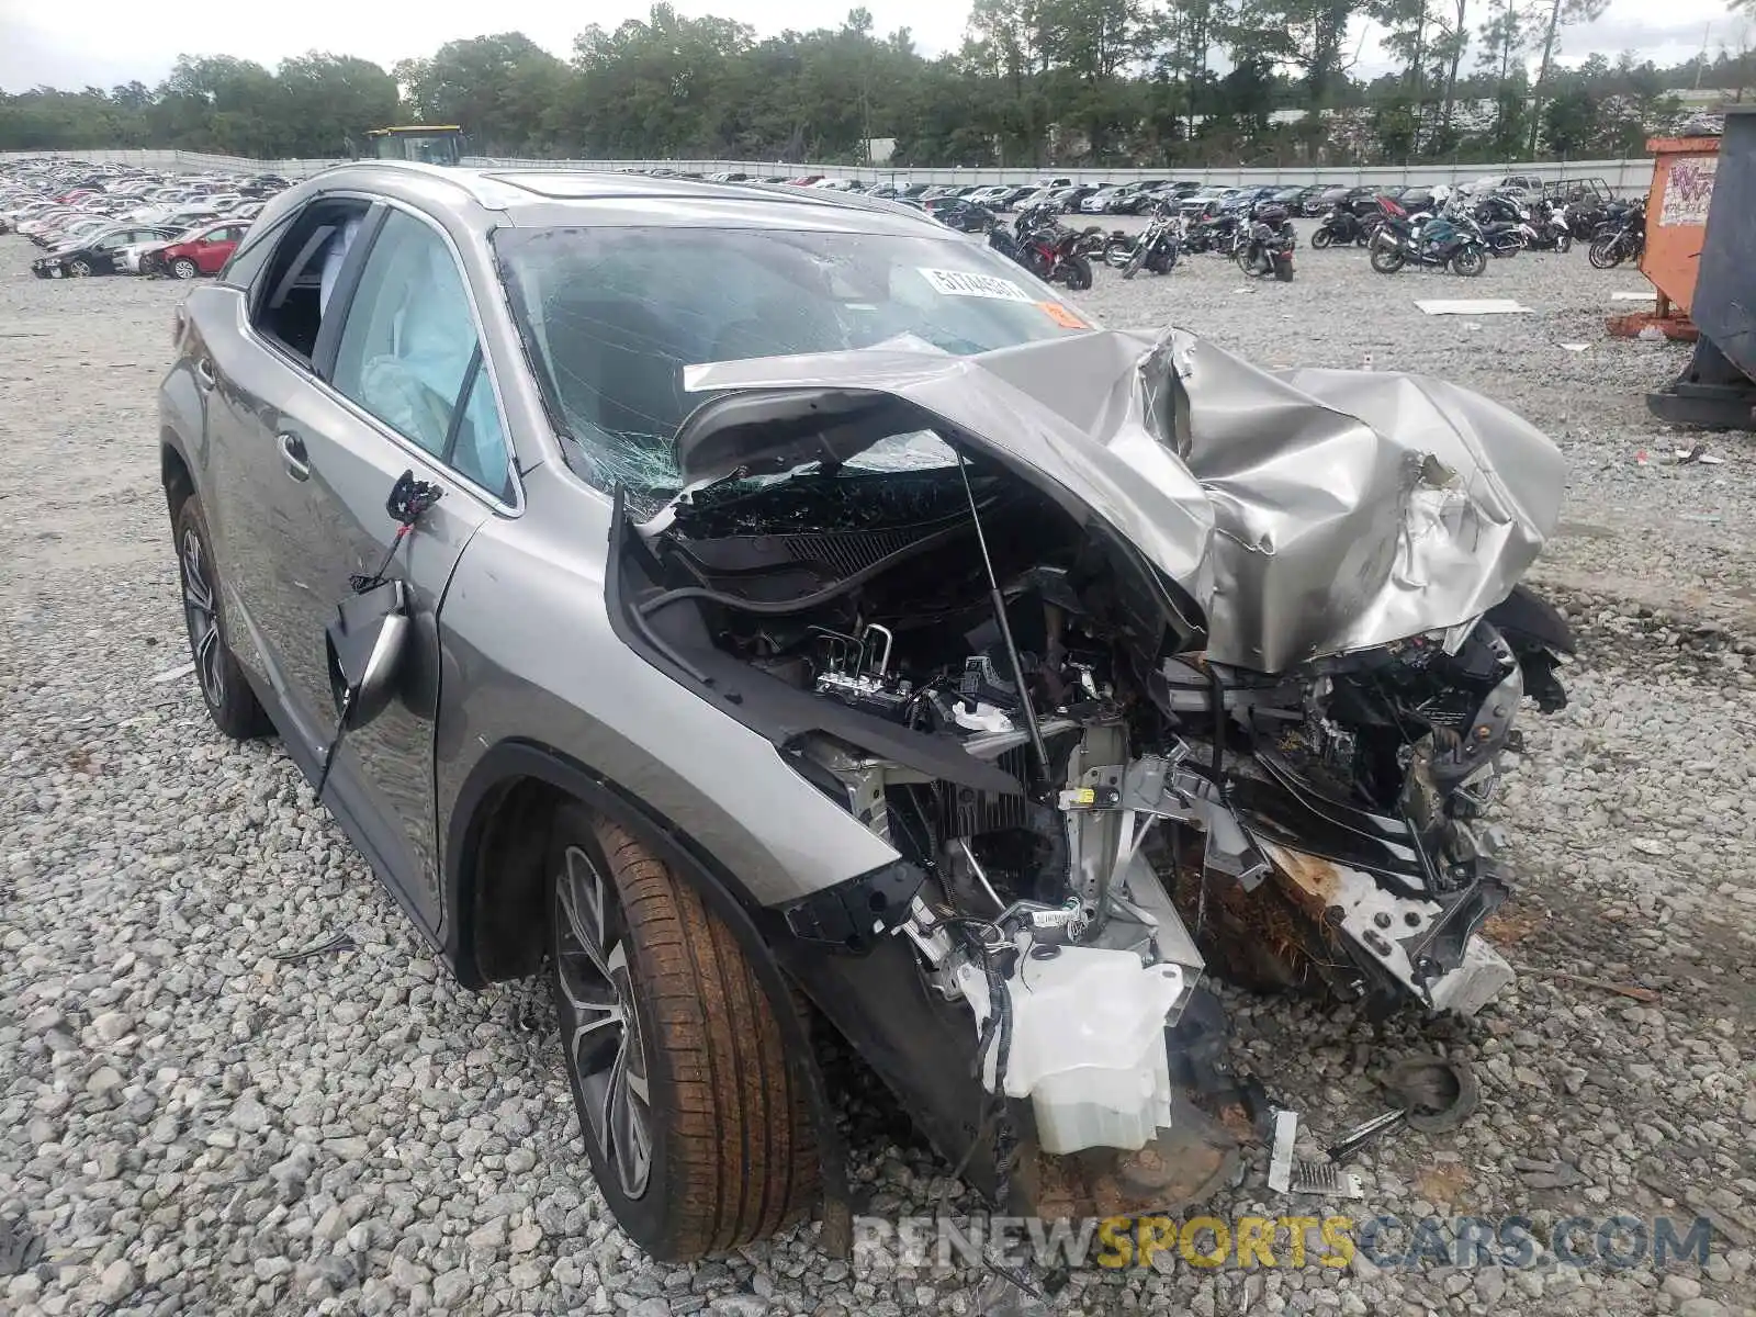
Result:
<instances>
[{"instance_id":1,"label":"wrecked silver SUV with crushed front end on gravel","mask_svg":"<svg viewBox=\"0 0 1756 1317\"><path fill-rule=\"evenodd\" d=\"M348 165L177 320L202 695L471 985L544 975L669 1259L846 1178L808 1022L1015 1212L1238 1155L1208 976L1473 1011L1572 639L1457 388L1098 328L855 197Z\"/></svg>"}]
</instances>

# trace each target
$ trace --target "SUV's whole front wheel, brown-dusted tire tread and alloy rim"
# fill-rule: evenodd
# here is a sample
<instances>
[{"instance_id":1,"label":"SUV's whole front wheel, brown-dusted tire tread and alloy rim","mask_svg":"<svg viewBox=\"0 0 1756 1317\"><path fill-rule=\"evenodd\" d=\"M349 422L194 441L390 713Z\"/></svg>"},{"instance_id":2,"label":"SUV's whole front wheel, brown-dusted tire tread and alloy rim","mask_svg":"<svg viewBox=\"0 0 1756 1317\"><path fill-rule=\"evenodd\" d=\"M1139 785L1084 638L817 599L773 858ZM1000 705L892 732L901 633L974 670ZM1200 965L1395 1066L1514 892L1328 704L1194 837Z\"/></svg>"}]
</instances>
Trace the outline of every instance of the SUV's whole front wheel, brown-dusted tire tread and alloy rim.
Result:
<instances>
[{"instance_id":1,"label":"SUV's whole front wheel, brown-dusted tire tread and alloy rim","mask_svg":"<svg viewBox=\"0 0 1756 1317\"><path fill-rule=\"evenodd\" d=\"M810 1101L738 938L583 806L558 810L548 873L567 1080L616 1224L680 1263L799 1220L818 1198Z\"/></svg>"}]
</instances>

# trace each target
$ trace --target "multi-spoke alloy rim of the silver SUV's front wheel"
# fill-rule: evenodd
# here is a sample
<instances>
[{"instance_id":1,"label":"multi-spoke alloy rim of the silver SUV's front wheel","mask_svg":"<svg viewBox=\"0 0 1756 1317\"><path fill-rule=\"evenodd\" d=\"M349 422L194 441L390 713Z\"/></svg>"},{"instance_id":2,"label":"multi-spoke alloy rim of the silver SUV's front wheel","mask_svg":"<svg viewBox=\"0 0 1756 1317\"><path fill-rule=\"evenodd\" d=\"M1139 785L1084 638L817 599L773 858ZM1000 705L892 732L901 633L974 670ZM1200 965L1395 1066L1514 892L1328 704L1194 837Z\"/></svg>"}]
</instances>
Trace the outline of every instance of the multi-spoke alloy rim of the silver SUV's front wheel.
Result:
<instances>
[{"instance_id":1,"label":"multi-spoke alloy rim of the silver SUV's front wheel","mask_svg":"<svg viewBox=\"0 0 1756 1317\"><path fill-rule=\"evenodd\" d=\"M625 922L615 885L579 846L555 880L562 1041L585 1134L627 1198L646 1192L653 1161L646 1050L629 982Z\"/></svg>"}]
</instances>

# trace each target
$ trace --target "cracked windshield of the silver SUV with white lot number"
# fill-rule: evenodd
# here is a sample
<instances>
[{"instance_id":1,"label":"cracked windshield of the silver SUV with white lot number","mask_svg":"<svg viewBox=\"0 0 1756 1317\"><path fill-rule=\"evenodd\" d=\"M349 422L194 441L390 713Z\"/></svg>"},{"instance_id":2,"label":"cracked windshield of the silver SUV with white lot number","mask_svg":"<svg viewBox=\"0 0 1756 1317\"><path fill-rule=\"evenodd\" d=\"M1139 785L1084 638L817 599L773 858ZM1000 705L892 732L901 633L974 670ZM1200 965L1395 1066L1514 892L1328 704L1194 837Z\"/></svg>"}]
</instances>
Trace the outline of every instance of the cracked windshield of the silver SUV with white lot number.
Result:
<instances>
[{"instance_id":1,"label":"cracked windshield of the silver SUV with white lot number","mask_svg":"<svg viewBox=\"0 0 1756 1317\"><path fill-rule=\"evenodd\" d=\"M687 365L874 346L964 356L1089 328L952 234L502 228L493 242L571 464L639 504L680 485L673 437L706 400L683 388Z\"/></svg>"}]
</instances>

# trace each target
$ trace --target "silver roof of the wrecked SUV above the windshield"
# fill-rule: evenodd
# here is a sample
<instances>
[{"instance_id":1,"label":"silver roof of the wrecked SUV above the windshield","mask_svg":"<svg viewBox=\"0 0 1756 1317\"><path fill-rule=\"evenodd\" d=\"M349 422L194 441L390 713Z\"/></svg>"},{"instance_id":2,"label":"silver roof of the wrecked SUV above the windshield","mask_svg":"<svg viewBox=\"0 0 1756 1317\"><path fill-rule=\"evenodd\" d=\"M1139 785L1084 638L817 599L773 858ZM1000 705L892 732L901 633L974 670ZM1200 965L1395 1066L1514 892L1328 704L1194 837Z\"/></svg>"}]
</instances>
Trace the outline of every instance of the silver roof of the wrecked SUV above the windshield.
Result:
<instances>
[{"instance_id":1,"label":"silver roof of the wrecked SUV above the windshield","mask_svg":"<svg viewBox=\"0 0 1756 1317\"><path fill-rule=\"evenodd\" d=\"M490 228L711 225L957 237L911 207L832 188L709 183L587 169L467 169L404 160L335 165L281 193L272 205L279 212L311 195L349 188L425 211L467 211L476 223Z\"/></svg>"}]
</instances>

